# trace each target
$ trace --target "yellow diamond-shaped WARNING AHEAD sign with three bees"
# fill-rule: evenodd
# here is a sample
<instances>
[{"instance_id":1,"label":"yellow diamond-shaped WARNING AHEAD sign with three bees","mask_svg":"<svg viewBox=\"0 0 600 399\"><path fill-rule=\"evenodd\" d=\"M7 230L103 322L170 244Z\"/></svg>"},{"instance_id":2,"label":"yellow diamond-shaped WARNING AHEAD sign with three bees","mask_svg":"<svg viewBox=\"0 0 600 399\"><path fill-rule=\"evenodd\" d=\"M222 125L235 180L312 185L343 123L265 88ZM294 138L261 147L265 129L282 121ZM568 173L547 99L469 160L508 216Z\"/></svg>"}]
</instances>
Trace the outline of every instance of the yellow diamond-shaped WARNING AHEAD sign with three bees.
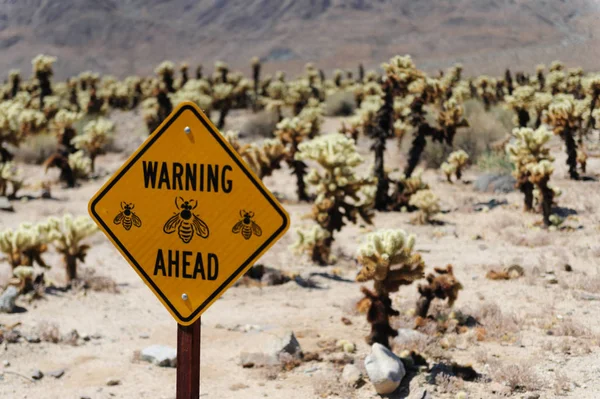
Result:
<instances>
[{"instance_id":1,"label":"yellow diamond-shaped WARNING AHEAD sign with three bees","mask_svg":"<svg viewBox=\"0 0 600 399\"><path fill-rule=\"evenodd\" d=\"M289 226L285 210L191 102L106 182L89 212L182 325Z\"/></svg>"}]
</instances>

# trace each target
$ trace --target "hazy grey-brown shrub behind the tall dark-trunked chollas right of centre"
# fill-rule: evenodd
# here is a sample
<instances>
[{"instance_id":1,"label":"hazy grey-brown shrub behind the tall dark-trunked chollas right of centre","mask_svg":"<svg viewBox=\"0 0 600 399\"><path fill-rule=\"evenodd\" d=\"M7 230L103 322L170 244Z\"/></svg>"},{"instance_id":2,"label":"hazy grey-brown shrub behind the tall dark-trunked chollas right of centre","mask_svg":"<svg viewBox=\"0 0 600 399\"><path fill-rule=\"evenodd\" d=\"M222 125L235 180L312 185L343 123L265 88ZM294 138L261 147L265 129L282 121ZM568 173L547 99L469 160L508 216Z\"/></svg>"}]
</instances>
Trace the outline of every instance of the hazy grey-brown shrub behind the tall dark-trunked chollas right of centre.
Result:
<instances>
[{"instance_id":1,"label":"hazy grey-brown shrub behind the tall dark-trunked chollas right of centre","mask_svg":"<svg viewBox=\"0 0 600 399\"><path fill-rule=\"evenodd\" d=\"M469 127L459 129L454 137L453 146L428 142L422 160L430 168L439 168L452 151L464 150L469 154L471 163L478 163L479 158L492 151L493 143L502 140L512 130L512 114L502 107L493 107L485 112L479 101L465 102L465 118Z\"/></svg>"}]
</instances>

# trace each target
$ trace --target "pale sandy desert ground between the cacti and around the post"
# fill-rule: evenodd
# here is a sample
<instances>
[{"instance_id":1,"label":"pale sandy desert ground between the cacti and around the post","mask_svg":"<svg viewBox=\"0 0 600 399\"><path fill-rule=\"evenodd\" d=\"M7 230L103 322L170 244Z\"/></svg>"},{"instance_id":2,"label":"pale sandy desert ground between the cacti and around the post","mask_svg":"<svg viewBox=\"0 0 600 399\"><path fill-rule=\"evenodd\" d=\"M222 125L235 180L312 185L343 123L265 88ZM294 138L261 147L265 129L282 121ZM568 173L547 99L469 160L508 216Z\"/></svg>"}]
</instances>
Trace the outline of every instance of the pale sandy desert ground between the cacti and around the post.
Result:
<instances>
[{"instance_id":1,"label":"pale sandy desert ground between the cacti and around the post","mask_svg":"<svg viewBox=\"0 0 600 399\"><path fill-rule=\"evenodd\" d=\"M127 131L123 147L132 150L141 142L144 129L139 115L118 116L119 131ZM234 116L231 124L240 123ZM327 118L323 131L335 131L341 119ZM369 142L361 139L360 152L372 162ZM390 143L387 164L401 166L406 149ZM289 246L295 227L309 204L295 201L289 171L276 171L265 184L282 199L292 218L292 228L258 263L290 275L300 275L314 288L292 280L283 285L240 284L227 291L202 317L203 398L376 398L366 381L360 388L341 379L344 361L364 369L369 353L365 336L369 325L355 310L361 298L354 254L361 236L377 228L401 228L417 235L416 248L423 254L427 271L452 264L464 286L454 311L475 317L486 330L443 336L424 335L398 340L394 349L421 349L445 357L446 362L471 364L480 374L477 381L439 378L431 373L409 373L401 388L390 398L454 398L466 392L469 398L597 398L600 392L600 183L568 180L564 151L554 142L557 157L555 184L563 190L558 199L563 212L576 213L565 225L573 227L545 231L532 225L540 215L524 214L520 193L480 193L468 184L478 171L467 171L467 183L448 184L438 171L428 170L424 180L441 198L443 224L417 226L408 213L378 213L373 226L349 226L336 238L334 266L312 265L295 255ZM15 212L0 211L0 228L23 221L38 221L50 215L87 213L89 198L127 158L128 152L109 153L98 160L104 177L71 190L53 187L55 200L15 202ZM368 166L363 168L366 172ZM598 177L600 159L588 164L589 176ZM51 179L39 166L25 166L30 181ZM28 190L23 190L27 194ZM37 192L30 191L31 194ZM501 205L481 206L495 200ZM502 204L506 201L505 204ZM573 212L574 211L574 212ZM137 360L136 353L151 344L176 345L176 325L133 269L101 233L89 242L92 248L84 269L108 276L120 293L55 291L33 303L19 302L22 313L0 314L1 325L13 325L24 336L39 331L43 323L55 323L61 334L77 330L77 345L67 343L3 343L0 346L0 398L175 398L175 369ZM50 277L63 284L64 270L56 253L48 253L53 265ZM490 269L518 264L521 278L492 281ZM569 265L570 268L566 267ZM570 269L571 271L567 271ZM9 266L0 261L0 281L9 277ZM395 307L403 313L394 320L398 328L412 328L405 315L417 298L416 286L394 294ZM442 314L445 306L436 307ZM342 322L346 318L346 322ZM293 331L305 352L319 353L321 360L304 362L285 371L277 367L243 368L242 353L268 352L279 337ZM331 350L332 343L345 339L356 344L353 354ZM444 349L442 349L444 348ZM432 355L433 356L433 355ZM6 366L6 362L10 366ZM430 367L443 362L430 361ZM2 366L4 364L4 366ZM45 374L64 369L61 378L46 375L29 379L32 370ZM120 384L107 386L108 379ZM508 385L517 386L511 391ZM519 386L524 388L519 389Z\"/></svg>"}]
</instances>

